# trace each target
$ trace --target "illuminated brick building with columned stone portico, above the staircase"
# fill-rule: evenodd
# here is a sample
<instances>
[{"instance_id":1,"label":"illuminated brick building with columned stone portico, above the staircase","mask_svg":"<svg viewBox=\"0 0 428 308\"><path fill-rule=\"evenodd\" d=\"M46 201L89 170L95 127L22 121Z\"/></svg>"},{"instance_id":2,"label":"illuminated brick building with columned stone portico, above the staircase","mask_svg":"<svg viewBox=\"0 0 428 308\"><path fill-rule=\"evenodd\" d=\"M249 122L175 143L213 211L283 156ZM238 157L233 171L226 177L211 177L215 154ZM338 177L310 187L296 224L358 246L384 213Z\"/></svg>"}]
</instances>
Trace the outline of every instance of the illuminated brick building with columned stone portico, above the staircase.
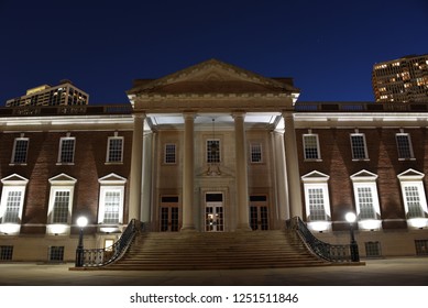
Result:
<instances>
[{"instance_id":1,"label":"illuminated brick building with columned stone portico, above the staircase","mask_svg":"<svg viewBox=\"0 0 428 308\"><path fill-rule=\"evenodd\" d=\"M299 102L292 79L215 59L128 96L0 109L0 260L73 261L79 216L87 248L133 218L152 232L262 232L296 216L337 244L348 211L362 256L428 253L419 105Z\"/></svg>"}]
</instances>

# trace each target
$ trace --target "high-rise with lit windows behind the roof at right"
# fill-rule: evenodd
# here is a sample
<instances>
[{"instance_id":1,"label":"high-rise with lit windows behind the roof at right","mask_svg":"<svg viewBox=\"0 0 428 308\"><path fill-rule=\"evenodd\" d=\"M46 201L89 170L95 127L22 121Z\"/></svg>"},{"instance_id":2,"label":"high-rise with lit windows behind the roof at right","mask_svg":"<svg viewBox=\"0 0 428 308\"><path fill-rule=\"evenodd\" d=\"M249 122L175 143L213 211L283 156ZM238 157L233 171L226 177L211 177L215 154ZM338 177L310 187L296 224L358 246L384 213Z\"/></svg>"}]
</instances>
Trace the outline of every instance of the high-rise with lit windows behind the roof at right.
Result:
<instances>
[{"instance_id":1,"label":"high-rise with lit windows behind the roof at right","mask_svg":"<svg viewBox=\"0 0 428 308\"><path fill-rule=\"evenodd\" d=\"M372 85L376 102L427 102L428 55L375 64Z\"/></svg>"}]
</instances>

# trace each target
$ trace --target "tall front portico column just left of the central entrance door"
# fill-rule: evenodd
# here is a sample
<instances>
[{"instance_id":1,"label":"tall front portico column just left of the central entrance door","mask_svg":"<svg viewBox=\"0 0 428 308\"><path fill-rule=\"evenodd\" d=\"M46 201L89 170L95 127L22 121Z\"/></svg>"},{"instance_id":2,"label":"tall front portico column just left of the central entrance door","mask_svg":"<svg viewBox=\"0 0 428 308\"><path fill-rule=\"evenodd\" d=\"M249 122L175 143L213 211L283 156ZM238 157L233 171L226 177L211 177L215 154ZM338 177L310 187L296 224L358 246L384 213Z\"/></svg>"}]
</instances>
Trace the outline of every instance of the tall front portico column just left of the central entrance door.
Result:
<instances>
[{"instance_id":1,"label":"tall front portico column just left of the central entrance door","mask_svg":"<svg viewBox=\"0 0 428 308\"><path fill-rule=\"evenodd\" d=\"M194 213L194 125L195 113L183 114L184 127L184 160L183 160L183 227L182 231L196 231Z\"/></svg>"}]
</instances>

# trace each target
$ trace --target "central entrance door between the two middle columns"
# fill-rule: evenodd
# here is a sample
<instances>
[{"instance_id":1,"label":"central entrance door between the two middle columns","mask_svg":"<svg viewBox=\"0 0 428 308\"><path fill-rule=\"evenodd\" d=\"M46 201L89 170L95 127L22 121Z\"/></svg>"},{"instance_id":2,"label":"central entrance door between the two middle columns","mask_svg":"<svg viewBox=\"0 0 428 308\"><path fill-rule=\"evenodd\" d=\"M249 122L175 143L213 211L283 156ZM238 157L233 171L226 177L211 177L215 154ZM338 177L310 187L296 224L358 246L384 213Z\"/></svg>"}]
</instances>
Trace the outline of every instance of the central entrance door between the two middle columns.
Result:
<instances>
[{"instance_id":1,"label":"central entrance door between the two middle columns","mask_svg":"<svg viewBox=\"0 0 428 308\"><path fill-rule=\"evenodd\" d=\"M223 231L223 194L207 193L205 195L205 231Z\"/></svg>"}]
</instances>

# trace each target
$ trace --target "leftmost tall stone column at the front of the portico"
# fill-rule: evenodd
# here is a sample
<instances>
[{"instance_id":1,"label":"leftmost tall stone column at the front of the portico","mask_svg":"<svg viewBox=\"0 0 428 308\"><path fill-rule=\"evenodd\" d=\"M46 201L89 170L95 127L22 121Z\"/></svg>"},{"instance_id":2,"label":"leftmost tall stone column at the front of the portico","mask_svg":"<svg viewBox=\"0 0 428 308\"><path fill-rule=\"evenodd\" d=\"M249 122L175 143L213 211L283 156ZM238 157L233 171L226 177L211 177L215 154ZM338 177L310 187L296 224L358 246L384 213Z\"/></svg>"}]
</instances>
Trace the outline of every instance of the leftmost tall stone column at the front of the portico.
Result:
<instances>
[{"instance_id":1,"label":"leftmost tall stone column at the front of the portico","mask_svg":"<svg viewBox=\"0 0 428 308\"><path fill-rule=\"evenodd\" d=\"M143 173L143 132L145 113L134 113L134 131L132 133L132 157L130 179L130 201L128 219L141 219L141 190Z\"/></svg>"}]
</instances>

